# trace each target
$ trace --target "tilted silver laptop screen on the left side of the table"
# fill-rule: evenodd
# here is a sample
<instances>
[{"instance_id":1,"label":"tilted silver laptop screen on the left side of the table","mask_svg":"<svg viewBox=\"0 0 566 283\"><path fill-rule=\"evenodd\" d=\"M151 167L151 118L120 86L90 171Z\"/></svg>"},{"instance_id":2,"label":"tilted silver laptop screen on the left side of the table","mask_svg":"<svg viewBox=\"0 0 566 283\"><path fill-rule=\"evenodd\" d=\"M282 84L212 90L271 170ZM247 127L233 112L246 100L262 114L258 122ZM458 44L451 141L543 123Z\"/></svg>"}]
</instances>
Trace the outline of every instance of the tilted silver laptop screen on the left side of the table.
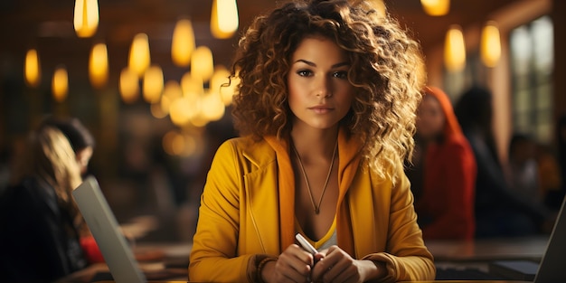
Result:
<instances>
[{"instance_id":1,"label":"tilted silver laptop screen on the left side of the table","mask_svg":"<svg viewBox=\"0 0 566 283\"><path fill-rule=\"evenodd\" d=\"M94 240L99 245L114 281L117 283L146 282L146 276L139 268L114 213L100 191L96 178L87 177L72 192L72 195Z\"/></svg>"}]
</instances>

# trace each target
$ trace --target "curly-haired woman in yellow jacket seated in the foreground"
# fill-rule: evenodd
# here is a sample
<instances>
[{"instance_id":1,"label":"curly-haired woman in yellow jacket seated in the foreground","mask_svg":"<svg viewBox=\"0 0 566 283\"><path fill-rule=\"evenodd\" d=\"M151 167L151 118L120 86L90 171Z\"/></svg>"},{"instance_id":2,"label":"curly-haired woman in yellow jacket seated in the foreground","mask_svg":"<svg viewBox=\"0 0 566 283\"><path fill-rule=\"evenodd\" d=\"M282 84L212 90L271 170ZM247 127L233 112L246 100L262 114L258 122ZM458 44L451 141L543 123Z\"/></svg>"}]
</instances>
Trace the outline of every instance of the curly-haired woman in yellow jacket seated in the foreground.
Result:
<instances>
[{"instance_id":1,"label":"curly-haired woman in yellow jacket seated in the foreground","mask_svg":"<svg viewBox=\"0 0 566 283\"><path fill-rule=\"evenodd\" d=\"M294 2L259 16L232 68L243 137L212 161L190 280L433 279L402 165L421 62L418 43L369 2Z\"/></svg>"}]
</instances>

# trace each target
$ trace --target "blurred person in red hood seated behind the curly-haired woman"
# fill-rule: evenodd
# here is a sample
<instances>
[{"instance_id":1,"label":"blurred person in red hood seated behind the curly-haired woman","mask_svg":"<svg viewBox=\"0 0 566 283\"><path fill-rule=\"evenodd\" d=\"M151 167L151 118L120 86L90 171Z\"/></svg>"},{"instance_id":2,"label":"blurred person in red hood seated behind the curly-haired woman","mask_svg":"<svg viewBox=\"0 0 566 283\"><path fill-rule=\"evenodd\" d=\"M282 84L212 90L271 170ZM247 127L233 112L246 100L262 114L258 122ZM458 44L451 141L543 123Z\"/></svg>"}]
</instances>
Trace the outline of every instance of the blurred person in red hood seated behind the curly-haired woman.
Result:
<instances>
[{"instance_id":1,"label":"blurred person in red hood seated behind the curly-haired woman","mask_svg":"<svg viewBox=\"0 0 566 283\"><path fill-rule=\"evenodd\" d=\"M476 159L444 91L426 87L408 175L424 239L474 238Z\"/></svg>"}]
</instances>

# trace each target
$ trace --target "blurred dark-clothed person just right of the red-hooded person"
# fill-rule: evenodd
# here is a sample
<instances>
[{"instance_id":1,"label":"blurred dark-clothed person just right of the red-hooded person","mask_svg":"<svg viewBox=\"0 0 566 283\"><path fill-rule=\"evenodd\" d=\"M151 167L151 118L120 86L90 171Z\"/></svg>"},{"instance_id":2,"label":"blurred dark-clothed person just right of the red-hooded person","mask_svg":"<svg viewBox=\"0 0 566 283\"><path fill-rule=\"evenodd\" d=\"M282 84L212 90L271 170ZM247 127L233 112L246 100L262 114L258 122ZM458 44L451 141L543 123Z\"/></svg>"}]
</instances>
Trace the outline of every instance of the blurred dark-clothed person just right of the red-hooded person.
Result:
<instances>
[{"instance_id":1,"label":"blurred dark-clothed person just right of the red-hooded person","mask_svg":"<svg viewBox=\"0 0 566 283\"><path fill-rule=\"evenodd\" d=\"M458 99L455 113L476 157L476 238L540 232L551 215L542 205L514 193L507 184L492 130L491 91L478 86L468 89Z\"/></svg>"}]
</instances>

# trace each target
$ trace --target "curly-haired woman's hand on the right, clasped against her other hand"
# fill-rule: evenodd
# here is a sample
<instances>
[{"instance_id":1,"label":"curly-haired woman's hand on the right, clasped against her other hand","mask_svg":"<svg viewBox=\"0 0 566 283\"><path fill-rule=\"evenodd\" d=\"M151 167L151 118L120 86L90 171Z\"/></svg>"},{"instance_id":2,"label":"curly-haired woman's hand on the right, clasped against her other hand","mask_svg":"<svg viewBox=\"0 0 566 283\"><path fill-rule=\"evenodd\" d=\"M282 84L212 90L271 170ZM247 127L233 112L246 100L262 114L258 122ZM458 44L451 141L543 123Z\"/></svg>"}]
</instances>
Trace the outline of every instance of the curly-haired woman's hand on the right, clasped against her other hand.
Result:
<instances>
[{"instance_id":1,"label":"curly-haired woman's hand on the right, clasped against her other hand","mask_svg":"<svg viewBox=\"0 0 566 283\"><path fill-rule=\"evenodd\" d=\"M371 260L352 259L337 246L326 250L313 269L314 282L364 282L382 276L383 270Z\"/></svg>"}]
</instances>

